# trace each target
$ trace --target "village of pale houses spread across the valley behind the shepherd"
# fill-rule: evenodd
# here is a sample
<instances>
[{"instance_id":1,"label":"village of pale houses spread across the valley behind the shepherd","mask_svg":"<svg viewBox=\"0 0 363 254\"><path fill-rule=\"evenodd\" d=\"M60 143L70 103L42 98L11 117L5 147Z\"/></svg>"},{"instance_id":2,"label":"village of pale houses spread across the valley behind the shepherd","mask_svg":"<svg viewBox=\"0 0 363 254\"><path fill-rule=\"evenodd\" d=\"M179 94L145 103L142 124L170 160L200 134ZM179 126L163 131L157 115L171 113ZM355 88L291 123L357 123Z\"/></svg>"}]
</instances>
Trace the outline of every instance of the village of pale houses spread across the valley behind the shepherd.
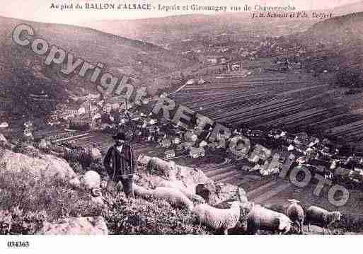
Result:
<instances>
[{"instance_id":1,"label":"village of pale houses spread across the valley behind the shepherd","mask_svg":"<svg viewBox=\"0 0 363 254\"><path fill-rule=\"evenodd\" d=\"M195 81L188 82L192 85ZM31 96L36 100L47 98L45 94ZM101 99L90 93L74 106L57 105L47 129L35 130L31 120L24 122L23 134L13 139L13 143L56 153L64 148L76 149L90 154L89 158L100 159L112 145L110 136L122 131L139 148L138 155L153 154L189 166L202 165L205 158L216 158L211 162L222 163L221 174L210 173L220 181L238 183L238 173L278 175L293 154L295 159L289 162L289 167L304 165L311 173L348 187L360 188L363 183L363 156L343 144L306 132L250 129L243 125L232 128L231 135L219 134L217 139L212 139L211 126L185 129L154 115L149 107L151 100L144 98L140 103L125 104L122 96ZM4 124L4 127L7 126ZM229 171L229 166L236 169Z\"/></svg>"}]
</instances>

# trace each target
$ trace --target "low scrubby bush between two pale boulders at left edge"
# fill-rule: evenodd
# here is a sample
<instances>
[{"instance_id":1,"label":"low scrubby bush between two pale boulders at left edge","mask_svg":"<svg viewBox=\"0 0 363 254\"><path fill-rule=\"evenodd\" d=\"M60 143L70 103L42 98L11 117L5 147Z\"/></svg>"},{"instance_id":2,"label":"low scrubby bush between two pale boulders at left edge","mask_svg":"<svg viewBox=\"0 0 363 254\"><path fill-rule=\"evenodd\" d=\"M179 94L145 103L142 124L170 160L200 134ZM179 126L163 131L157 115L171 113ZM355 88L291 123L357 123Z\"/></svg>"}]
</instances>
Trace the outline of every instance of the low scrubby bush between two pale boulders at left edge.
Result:
<instances>
[{"instance_id":1,"label":"low scrubby bush between two pale boulders at left edge","mask_svg":"<svg viewBox=\"0 0 363 254\"><path fill-rule=\"evenodd\" d=\"M68 216L99 216L102 212L86 190L75 190L62 180L34 178L24 172L4 172L2 168L0 200L2 219L10 216L16 221L38 217L53 221Z\"/></svg>"}]
</instances>

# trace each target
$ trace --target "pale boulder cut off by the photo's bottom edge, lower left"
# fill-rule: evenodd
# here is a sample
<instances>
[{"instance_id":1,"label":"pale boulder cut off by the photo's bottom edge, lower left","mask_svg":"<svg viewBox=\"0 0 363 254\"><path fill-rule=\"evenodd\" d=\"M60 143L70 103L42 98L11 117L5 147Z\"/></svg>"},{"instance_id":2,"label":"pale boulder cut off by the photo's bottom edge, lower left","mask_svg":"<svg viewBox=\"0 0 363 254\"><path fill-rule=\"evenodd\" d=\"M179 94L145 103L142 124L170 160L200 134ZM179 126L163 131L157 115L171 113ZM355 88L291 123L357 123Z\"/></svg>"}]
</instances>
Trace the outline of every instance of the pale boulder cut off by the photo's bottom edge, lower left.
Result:
<instances>
[{"instance_id":1,"label":"pale boulder cut off by the photo's bottom edge, lower left","mask_svg":"<svg viewBox=\"0 0 363 254\"><path fill-rule=\"evenodd\" d=\"M54 223L46 222L40 235L107 235L103 217L69 217Z\"/></svg>"}]
</instances>

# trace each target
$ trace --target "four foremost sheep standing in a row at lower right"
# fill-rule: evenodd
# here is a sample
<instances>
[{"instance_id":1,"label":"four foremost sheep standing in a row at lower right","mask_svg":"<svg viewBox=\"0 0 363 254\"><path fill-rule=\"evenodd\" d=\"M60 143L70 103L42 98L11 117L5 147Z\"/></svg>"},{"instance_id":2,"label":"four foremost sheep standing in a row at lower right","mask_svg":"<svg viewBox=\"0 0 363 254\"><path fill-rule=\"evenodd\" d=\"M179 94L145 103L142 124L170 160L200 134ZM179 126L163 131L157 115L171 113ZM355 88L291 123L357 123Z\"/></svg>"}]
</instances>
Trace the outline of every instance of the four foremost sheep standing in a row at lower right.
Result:
<instances>
[{"instance_id":1,"label":"four foremost sheep standing in a row at lower right","mask_svg":"<svg viewBox=\"0 0 363 254\"><path fill-rule=\"evenodd\" d=\"M207 224L212 229L228 234L229 229L234 229L241 222L243 212L246 212L247 223L243 231L255 234L259 230L272 231L272 233L289 233L292 227L297 226L299 233L304 233L303 224L321 226L330 233L329 226L335 221L340 221L340 212L328 212L321 207L311 206L304 212L298 200L288 200L289 204L284 213L267 209L259 204L232 202L231 208L219 209L209 204L199 204L192 212L195 213L200 223Z\"/></svg>"}]
</instances>

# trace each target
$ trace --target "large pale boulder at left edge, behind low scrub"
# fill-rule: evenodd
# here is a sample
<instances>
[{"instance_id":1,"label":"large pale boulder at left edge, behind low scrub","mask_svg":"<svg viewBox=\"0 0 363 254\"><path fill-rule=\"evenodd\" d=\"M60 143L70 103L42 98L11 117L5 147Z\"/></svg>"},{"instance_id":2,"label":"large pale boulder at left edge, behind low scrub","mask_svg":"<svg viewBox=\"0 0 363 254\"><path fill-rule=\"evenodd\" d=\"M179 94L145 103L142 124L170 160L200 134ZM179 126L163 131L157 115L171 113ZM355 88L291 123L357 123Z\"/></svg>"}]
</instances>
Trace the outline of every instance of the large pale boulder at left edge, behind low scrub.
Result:
<instances>
[{"instance_id":1,"label":"large pale boulder at left edge, behind low scrub","mask_svg":"<svg viewBox=\"0 0 363 254\"><path fill-rule=\"evenodd\" d=\"M34 178L65 180L69 183L79 183L76 173L63 158L50 154L27 156L6 150L0 158L2 171L8 173L28 174Z\"/></svg>"}]
</instances>

